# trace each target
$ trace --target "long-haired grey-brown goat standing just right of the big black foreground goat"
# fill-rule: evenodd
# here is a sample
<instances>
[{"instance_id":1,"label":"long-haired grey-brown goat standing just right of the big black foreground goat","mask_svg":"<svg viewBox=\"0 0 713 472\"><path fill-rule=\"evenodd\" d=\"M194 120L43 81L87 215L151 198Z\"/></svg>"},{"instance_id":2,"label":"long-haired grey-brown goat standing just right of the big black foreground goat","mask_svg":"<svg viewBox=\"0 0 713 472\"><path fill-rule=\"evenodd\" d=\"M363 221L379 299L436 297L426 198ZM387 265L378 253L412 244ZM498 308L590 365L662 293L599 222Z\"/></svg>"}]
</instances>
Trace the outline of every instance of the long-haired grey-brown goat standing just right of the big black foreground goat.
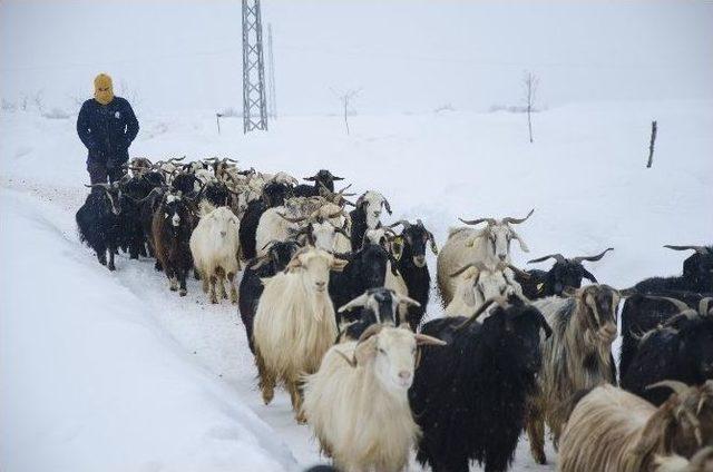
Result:
<instances>
[{"instance_id":1,"label":"long-haired grey-brown goat standing just right of the big black foreground goat","mask_svg":"<svg viewBox=\"0 0 713 472\"><path fill-rule=\"evenodd\" d=\"M567 291L568 298L548 297L533 303L553 327L543 345L539 389L530 404L527 434L533 458L546 462L545 422L559 441L563 417L559 405L577 391L616 382L612 343L616 338L619 294L608 285Z\"/></svg>"}]
</instances>

